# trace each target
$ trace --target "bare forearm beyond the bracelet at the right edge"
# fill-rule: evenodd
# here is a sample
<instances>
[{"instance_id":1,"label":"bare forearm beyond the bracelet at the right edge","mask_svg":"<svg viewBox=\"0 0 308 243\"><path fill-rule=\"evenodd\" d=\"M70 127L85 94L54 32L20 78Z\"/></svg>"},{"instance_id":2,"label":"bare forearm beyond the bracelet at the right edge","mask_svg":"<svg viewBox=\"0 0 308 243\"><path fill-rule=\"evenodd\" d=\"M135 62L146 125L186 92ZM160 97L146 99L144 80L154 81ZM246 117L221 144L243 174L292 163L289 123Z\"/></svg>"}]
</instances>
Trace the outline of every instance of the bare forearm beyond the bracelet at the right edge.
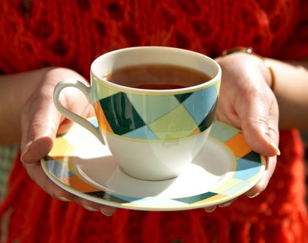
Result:
<instances>
[{"instance_id":1,"label":"bare forearm beyond the bracelet at the right edge","mask_svg":"<svg viewBox=\"0 0 308 243\"><path fill-rule=\"evenodd\" d=\"M268 59L275 73L274 93L280 129L308 128L308 62Z\"/></svg>"}]
</instances>

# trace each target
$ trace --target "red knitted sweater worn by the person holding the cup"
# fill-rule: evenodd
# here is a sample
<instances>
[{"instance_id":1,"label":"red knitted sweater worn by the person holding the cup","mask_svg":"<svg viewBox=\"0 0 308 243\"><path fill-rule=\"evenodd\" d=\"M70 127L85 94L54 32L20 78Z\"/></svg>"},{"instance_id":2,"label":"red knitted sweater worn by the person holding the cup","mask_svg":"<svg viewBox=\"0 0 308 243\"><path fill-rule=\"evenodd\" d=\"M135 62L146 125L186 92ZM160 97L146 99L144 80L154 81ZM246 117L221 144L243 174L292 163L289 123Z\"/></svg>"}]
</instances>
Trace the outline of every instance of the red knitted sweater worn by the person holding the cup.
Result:
<instances>
[{"instance_id":1,"label":"red knitted sweater worn by the person holding the cup","mask_svg":"<svg viewBox=\"0 0 308 243\"><path fill-rule=\"evenodd\" d=\"M251 46L274 58L308 56L308 2L303 0L3 0L0 70L46 66L85 77L97 56L139 45L181 47L218 56ZM112 217L52 199L15 161L0 216L7 242L305 242L307 210L302 144L280 134L277 169L265 192L227 208L141 212Z\"/></svg>"}]
</instances>

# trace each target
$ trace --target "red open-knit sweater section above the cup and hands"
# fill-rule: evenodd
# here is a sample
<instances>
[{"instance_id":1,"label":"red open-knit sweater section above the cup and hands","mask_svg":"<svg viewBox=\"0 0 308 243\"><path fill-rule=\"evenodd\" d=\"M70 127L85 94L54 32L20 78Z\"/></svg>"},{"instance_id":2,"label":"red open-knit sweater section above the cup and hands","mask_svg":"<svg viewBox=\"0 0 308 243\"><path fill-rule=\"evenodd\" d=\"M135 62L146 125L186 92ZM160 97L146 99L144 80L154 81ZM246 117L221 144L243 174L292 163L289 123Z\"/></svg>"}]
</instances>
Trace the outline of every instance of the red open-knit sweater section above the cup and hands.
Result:
<instances>
[{"instance_id":1,"label":"red open-knit sweater section above the cup and hands","mask_svg":"<svg viewBox=\"0 0 308 243\"><path fill-rule=\"evenodd\" d=\"M0 69L8 74L54 65L88 76L97 56L139 45L213 57L240 45L298 58L307 55L307 16L307 1L300 0L3 0Z\"/></svg>"}]
</instances>

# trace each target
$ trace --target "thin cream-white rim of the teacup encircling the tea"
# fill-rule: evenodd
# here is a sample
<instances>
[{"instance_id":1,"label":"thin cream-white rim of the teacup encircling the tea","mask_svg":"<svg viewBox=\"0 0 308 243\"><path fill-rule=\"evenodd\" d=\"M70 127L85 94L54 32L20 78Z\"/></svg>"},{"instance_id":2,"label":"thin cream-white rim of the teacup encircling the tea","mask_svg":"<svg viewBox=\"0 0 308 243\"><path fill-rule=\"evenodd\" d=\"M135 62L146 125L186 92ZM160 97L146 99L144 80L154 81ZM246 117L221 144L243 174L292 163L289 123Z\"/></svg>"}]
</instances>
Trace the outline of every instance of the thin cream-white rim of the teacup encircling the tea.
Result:
<instances>
[{"instance_id":1,"label":"thin cream-white rim of the teacup encircling the tea","mask_svg":"<svg viewBox=\"0 0 308 243\"><path fill-rule=\"evenodd\" d=\"M207 60L210 60L218 69L218 72L216 73L216 75L211 78L209 81L206 81L205 83L200 83L198 85L193 85L193 86L189 86L189 87L182 87L182 88L178 88L178 89L169 89L169 90L149 90L149 89L140 89L137 87L128 87L128 86L124 86L124 85L119 85L117 83L112 83L110 81L107 81L103 78L101 78L99 75L96 75L94 72L94 66L96 65L96 62L99 62L101 60L101 58L105 58L105 56L108 55L114 55L115 53L118 52L122 52L122 51L130 51L130 50L134 50L134 49L165 49L165 50L169 50L169 51L181 51L186 52L186 53L191 53L194 55L198 55L198 56L202 56L203 58L206 58ZM123 91L127 91L127 92L133 92L133 93L153 93L153 94L167 94L167 93L182 93L182 92L191 92L193 90L200 90L201 88L205 88L208 86L212 86L215 83L220 81L221 78L221 67L218 64L218 62L216 62L216 60L209 58L208 56L205 56L203 53L198 53L196 51L190 51L187 49L180 49L180 48L176 48L176 47L159 47L159 46L142 46L142 47L128 47L128 48L123 48L123 49L117 49L114 51L109 51L107 53L102 54L101 56L99 56L98 58L96 58L91 65L90 68L90 73L92 78L94 78L94 80L96 82L99 82L100 84L105 84L108 85L109 87L113 87L114 89L117 90L123 90Z\"/></svg>"}]
</instances>

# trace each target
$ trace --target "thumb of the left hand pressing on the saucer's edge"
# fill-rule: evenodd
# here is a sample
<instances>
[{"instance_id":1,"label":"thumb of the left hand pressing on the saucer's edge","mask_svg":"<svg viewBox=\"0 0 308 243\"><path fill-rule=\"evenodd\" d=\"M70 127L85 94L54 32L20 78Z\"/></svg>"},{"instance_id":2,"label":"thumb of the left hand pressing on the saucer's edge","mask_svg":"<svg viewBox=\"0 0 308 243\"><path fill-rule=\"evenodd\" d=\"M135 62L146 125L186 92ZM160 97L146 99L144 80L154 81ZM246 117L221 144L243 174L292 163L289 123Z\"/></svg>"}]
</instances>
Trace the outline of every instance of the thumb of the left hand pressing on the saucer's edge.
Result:
<instances>
[{"instance_id":1,"label":"thumb of the left hand pressing on the saucer's edge","mask_svg":"<svg viewBox=\"0 0 308 243\"><path fill-rule=\"evenodd\" d=\"M22 162L37 162L51 151L61 119L51 97L48 92L33 94L24 106Z\"/></svg>"}]
</instances>

